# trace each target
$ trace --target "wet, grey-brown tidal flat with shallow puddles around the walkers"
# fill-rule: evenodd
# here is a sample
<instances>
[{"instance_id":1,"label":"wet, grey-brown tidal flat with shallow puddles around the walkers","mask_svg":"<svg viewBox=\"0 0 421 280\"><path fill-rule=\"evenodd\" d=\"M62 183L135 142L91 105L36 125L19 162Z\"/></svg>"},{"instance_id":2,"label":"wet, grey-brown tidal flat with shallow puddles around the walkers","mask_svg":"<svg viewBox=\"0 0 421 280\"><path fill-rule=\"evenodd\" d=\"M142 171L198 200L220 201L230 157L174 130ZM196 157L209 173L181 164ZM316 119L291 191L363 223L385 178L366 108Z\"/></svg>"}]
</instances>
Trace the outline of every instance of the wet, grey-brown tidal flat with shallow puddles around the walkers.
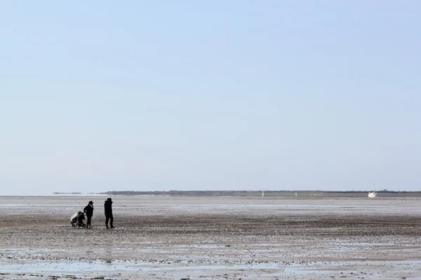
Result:
<instances>
[{"instance_id":1,"label":"wet, grey-brown tidal flat with shallow puddles around the walkers","mask_svg":"<svg viewBox=\"0 0 421 280\"><path fill-rule=\"evenodd\" d=\"M0 197L0 279L421 279L417 198L105 198Z\"/></svg>"}]
</instances>

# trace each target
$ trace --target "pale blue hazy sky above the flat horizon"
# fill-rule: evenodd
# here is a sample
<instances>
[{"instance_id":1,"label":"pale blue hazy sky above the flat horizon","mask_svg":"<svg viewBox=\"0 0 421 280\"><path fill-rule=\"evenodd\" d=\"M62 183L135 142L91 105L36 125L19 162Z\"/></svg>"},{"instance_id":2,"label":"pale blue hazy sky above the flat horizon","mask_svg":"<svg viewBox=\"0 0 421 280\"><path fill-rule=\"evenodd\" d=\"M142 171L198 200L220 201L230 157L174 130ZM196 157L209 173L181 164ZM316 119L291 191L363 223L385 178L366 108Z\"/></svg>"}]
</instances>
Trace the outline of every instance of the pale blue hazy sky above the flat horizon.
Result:
<instances>
[{"instance_id":1,"label":"pale blue hazy sky above the flat horizon","mask_svg":"<svg viewBox=\"0 0 421 280\"><path fill-rule=\"evenodd\" d=\"M420 1L0 1L0 195L421 190Z\"/></svg>"}]
</instances>

